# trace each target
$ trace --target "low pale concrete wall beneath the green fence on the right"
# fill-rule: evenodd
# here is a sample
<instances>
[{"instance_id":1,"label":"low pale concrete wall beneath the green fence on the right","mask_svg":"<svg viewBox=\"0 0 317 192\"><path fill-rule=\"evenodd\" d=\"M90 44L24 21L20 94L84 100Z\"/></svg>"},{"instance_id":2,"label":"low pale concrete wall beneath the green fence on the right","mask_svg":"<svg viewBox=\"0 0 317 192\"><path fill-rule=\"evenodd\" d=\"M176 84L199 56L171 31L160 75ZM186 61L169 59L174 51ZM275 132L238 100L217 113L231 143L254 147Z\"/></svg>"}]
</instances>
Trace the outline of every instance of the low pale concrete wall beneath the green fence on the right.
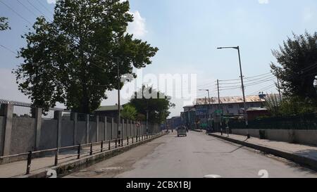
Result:
<instances>
[{"instance_id":1,"label":"low pale concrete wall beneath the green fence on the right","mask_svg":"<svg viewBox=\"0 0 317 192\"><path fill-rule=\"evenodd\" d=\"M251 136L260 137L260 129L249 129ZM317 130L294 130L294 129L263 129L266 139L284 141L288 143L301 143L317 146ZM232 134L247 135L248 129L232 129Z\"/></svg>"}]
</instances>

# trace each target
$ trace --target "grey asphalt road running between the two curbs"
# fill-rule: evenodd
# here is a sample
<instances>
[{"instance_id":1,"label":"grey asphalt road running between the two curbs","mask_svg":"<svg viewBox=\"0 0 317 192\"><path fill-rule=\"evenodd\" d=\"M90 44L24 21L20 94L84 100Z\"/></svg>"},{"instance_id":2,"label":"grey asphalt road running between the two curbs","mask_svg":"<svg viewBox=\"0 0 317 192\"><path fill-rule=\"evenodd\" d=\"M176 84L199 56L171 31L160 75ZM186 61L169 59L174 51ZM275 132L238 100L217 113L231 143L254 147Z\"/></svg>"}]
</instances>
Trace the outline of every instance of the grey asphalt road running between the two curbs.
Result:
<instances>
[{"instance_id":1,"label":"grey asphalt road running between the two curbs","mask_svg":"<svg viewBox=\"0 0 317 192\"><path fill-rule=\"evenodd\" d=\"M180 138L175 132L162 136L67 177L260 178L261 170L270 178L317 178L316 172L288 160L199 132Z\"/></svg>"}]
</instances>

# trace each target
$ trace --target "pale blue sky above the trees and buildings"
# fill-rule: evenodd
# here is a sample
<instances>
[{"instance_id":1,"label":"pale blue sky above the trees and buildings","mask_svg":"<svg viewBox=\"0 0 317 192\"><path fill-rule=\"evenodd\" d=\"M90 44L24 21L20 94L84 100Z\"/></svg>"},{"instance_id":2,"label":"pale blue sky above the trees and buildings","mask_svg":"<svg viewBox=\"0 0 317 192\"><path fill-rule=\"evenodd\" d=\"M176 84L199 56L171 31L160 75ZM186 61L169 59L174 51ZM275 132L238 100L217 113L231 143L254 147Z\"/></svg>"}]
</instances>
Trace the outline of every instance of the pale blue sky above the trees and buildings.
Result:
<instances>
[{"instance_id":1,"label":"pale blue sky above the trees and buildings","mask_svg":"<svg viewBox=\"0 0 317 192\"><path fill-rule=\"evenodd\" d=\"M25 45L20 35L27 32L25 25L33 23L35 15L44 13L51 18L54 4L46 0L0 0L13 8L25 20L0 3L0 16L9 18L12 30L0 33L0 44L13 51ZM42 4L39 4L41 1ZM43 5L43 6L42 6ZM44 6L46 8L44 8ZM269 63L275 61L271 49L277 49L292 32L302 34L317 31L316 0L131 0L135 23L129 27L138 38L149 41L160 51L144 73L197 74L199 88L213 89L216 79L239 78L237 51L217 50L217 46L240 46L245 77L270 72ZM42 12L42 13L40 13ZM14 84L10 70L20 60L0 47L0 98L27 101ZM201 86L205 85L206 86ZM273 82L247 87L247 94L268 87ZM266 90L276 92L275 88ZM211 93L216 96L216 92ZM240 96L241 90L221 92L222 96ZM199 92L198 96L206 96ZM115 93L108 101L116 102ZM175 100L179 115L183 101Z\"/></svg>"}]
</instances>

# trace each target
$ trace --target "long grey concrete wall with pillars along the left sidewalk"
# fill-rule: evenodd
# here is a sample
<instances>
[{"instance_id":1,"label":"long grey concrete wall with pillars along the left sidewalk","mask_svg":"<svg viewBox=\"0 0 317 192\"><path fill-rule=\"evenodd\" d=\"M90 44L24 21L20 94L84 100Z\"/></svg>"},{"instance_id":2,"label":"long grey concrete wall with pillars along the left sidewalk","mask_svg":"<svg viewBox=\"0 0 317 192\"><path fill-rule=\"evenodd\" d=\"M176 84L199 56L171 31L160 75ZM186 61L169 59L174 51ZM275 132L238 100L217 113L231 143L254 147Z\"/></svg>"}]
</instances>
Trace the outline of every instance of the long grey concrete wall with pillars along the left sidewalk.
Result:
<instances>
[{"instance_id":1,"label":"long grey concrete wall with pillars along the left sidewalk","mask_svg":"<svg viewBox=\"0 0 317 192\"><path fill-rule=\"evenodd\" d=\"M40 109L39 109L40 110ZM13 117L12 126L9 129L11 134L8 134L8 144L4 147L4 129L6 124L6 117L0 116L0 154L4 154L3 148L12 155L18 153L27 153L28 151L41 151L57 147L57 131L58 120L39 117ZM58 116L60 117L60 116ZM39 120L39 121L37 121ZM112 126L111 118L107 119L106 130L105 122L99 121L98 129L98 141L112 140L118 137L117 124L113 122ZM61 118L61 132L60 132L60 146L73 146L79 143L86 143L87 135L87 122L77 121L77 127L75 127L75 120L70 118ZM157 132L159 125L149 124L149 133ZM123 139L127 136L137 136L147 134L146 125L142 124L141 127L136 127L135 124L131 124L130 121L125 120L122 124ZM74 136L74 132L77 132ZM97 122L89 121L89 143L97 141ZM106 133L106 138L105 138ZM11 136L10 136L11 135ZM36 136L38 135L38 137ZM76 141L74 141L74 137ZM36 141L37 139L37 141Z\"/></svg>"}]
</instances>

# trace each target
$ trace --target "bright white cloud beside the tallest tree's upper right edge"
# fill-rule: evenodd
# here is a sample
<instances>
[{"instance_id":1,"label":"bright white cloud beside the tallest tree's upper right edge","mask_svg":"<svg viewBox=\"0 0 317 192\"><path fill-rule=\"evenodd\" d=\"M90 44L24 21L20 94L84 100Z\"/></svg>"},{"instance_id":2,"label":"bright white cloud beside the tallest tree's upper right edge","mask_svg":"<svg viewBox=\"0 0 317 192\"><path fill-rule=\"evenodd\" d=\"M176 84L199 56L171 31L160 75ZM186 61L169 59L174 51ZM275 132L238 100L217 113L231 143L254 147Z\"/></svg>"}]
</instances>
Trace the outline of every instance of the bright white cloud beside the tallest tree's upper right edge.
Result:
<instances>
[{"instance_id":1,"label":"bright white cloud beside the tallest tree's upper right edge","mask_svg":"<svg viewBox=\"0 0 317 192\"><path fill-rule=\"evenodd\" d=\"M144 35L147 34L145 19L141 17L139 11L129 13L133 15L134 20L129 24L128 32L134 34L136 38L144 37Z\"/></svg>"}]
</instances>

